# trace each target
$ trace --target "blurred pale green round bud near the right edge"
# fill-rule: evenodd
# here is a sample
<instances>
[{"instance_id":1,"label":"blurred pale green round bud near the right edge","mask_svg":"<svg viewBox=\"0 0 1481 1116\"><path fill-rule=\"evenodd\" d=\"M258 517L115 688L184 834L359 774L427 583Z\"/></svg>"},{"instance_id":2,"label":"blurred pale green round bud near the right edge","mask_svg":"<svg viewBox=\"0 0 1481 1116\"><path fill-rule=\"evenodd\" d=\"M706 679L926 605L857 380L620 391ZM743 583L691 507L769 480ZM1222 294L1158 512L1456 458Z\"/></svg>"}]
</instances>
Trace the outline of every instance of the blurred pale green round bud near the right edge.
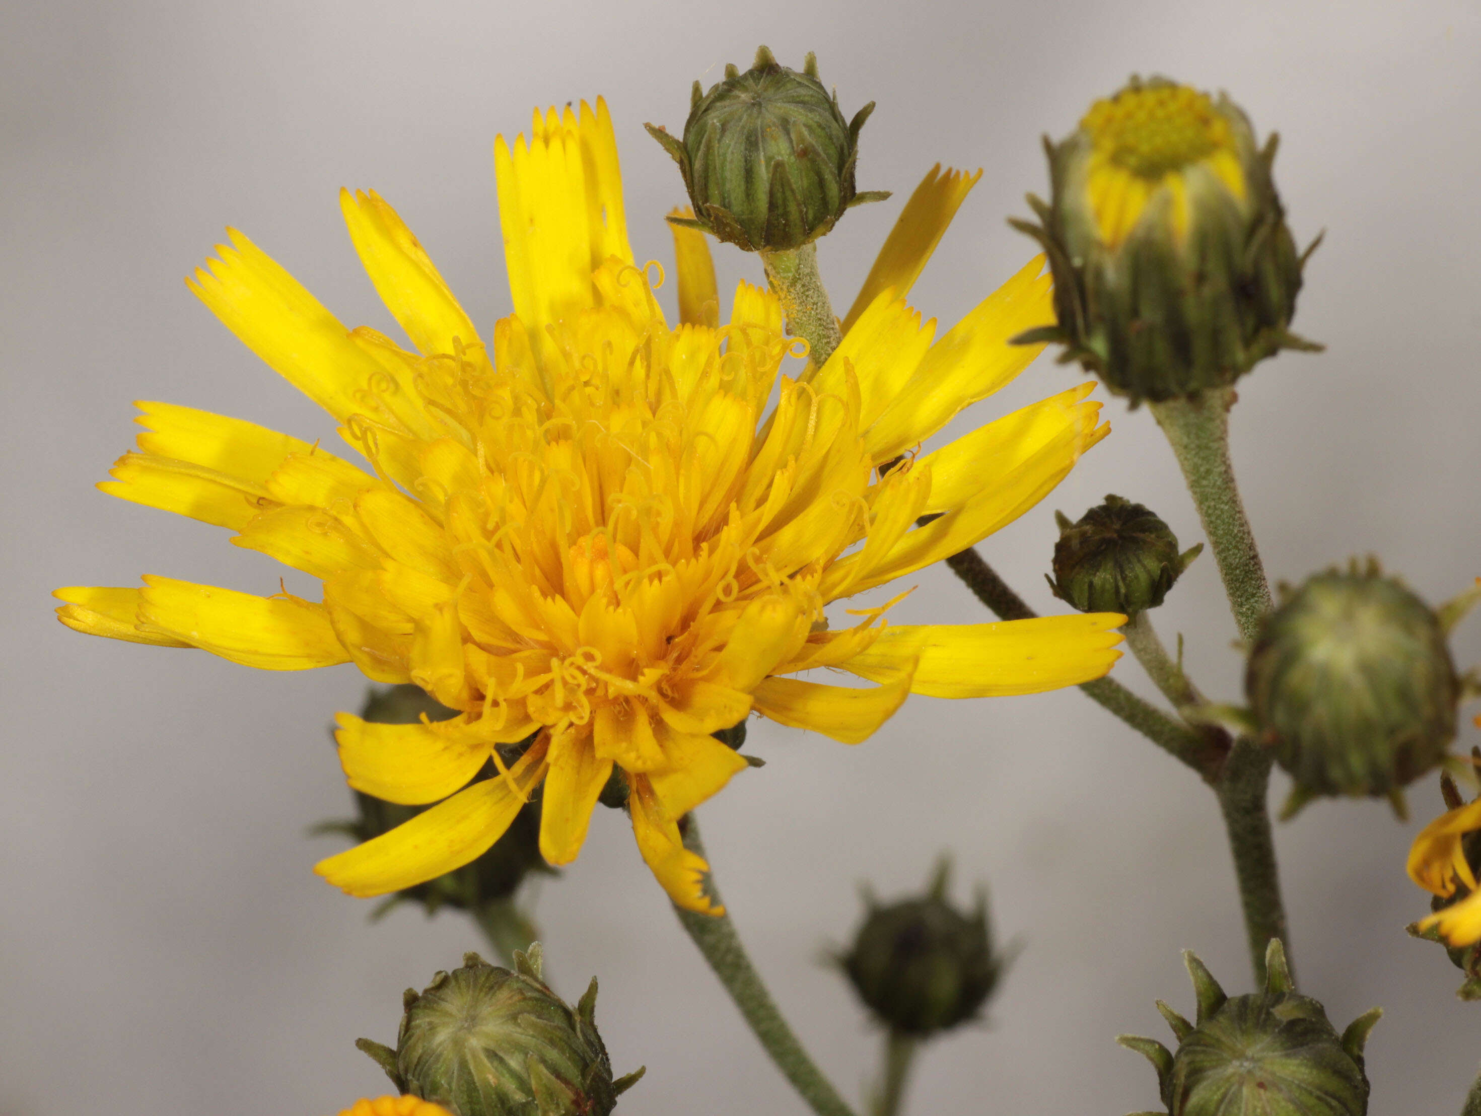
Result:
<instances>
[{"instance_id":1,"label":"blurred pale green round bud near the right edge","mask_svg":"<svg viewBox=\"0 0 1481 1116\"><path fill-rule=\"evenodd\" d=\"M1460 677L1441 618L1377 563L1306 581L1265 620L1244 674L1262 738L1296 780L1286 817L1321 794L1386 794L1445 756Z\"/></svg>"}]
</instances>

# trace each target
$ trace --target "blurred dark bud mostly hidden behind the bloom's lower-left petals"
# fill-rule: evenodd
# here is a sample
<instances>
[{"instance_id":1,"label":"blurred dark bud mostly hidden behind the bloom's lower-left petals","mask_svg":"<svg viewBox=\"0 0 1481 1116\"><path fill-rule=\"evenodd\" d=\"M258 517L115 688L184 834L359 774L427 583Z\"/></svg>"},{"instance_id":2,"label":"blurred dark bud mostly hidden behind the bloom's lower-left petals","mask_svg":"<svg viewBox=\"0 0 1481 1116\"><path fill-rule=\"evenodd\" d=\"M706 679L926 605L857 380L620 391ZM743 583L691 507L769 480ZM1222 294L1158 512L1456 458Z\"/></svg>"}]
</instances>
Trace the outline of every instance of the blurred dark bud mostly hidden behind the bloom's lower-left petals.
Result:
<instances>
[{"instance_id":1,"label":"blurred dark bud mostly hidden behind the bloom's lower-left petals","mask_svg":"<svg viewBox=\"0 0 1481 1116\"><path fill-rule=\"evenodd\" d=\"M421 686L400 685L388 689L372 689L360 716L381 725L410 725L421 720L422 716L428 720L447 720L458 713L428 697ZM501 751L508 762L512 762L527 743L501 747ZM487 763L477 778L495 778L496 774L493 763ZM318 830L344 833L357 842L366 842L427 809L427 806L385 802L358 790L354 791L354 796L358 818L347 823L327 823ZM412 901L425 906L428 914L441 907L489 911L490 904L511 900L532 871L557 873L541 855L541 803L538 797L520 809L504 836L481 857L444 876L427 880L427 883L398 891L382 910L388 910L397 903ZM504 916L515 917L515 913L507 910ZM518 938L521 932L526 934L524 940L518 943L520 946L533 938L532 926L511 928L511 931L517 931L514 938Z\"/></svg>"}]
</instances>

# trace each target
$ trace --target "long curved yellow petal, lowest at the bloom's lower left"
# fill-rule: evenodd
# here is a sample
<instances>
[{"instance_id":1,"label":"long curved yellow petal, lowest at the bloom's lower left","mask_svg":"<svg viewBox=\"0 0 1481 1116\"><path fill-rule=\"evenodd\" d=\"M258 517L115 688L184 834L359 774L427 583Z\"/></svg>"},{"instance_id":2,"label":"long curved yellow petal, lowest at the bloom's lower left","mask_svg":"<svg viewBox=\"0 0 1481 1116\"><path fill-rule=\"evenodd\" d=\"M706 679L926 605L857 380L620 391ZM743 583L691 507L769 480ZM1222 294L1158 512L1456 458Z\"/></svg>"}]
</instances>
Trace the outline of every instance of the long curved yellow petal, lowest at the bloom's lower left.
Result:
<instances>
[{"instance_id":1,"label":"long curved yellow petal, lowest at the bloom's lower left","mask_svg":"<svg viewBox=\"0 0 1481 1116\"><path fill-rule=\"evenodd\" d=\"M390 833L321 860L314 871L350 895L369 898L461 868L509 828L530 788L545 778L545 751L538 740L509 769L509 778L474 783Z\"/></svg>"}]
</instances>

